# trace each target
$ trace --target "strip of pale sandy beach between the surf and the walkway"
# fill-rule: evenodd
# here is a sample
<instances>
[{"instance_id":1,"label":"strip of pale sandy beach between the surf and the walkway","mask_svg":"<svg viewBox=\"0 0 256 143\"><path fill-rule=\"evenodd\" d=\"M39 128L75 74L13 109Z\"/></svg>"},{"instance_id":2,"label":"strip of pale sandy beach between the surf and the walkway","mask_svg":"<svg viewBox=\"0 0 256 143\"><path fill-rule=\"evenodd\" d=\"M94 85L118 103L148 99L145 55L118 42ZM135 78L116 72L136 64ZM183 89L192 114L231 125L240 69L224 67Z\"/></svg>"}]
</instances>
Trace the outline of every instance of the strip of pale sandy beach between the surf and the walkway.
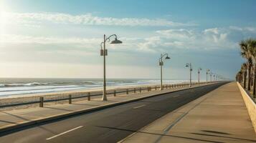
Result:
<instances>
[{"instance_id":1,"label":"strip of pale sandy beach between the surf and the walkway","mask_svg":"<svg viewBox=\"0 0 256 143\"><path fill-rule=\"evenodd\" d=\"M108 87L107 90L109 93L113 93L115 90L116 92L123 92L118 94L126 94L126 89L133 90L134 88L142 88L147 91L147 87L151 87L154 89L154 87L159 87L158 84L143 84L143 85L128 85L128 86L120 86L120 87ZM68 91L68 92L54 92L54 93L39 93L39 94L19 94L19 95L12 95L10 97L1 97L0 98L0 106L1 105L7 105L7 104L18 104L18 103L26 103L26 102L37 102L39 101L39 97L44 97L44 100L51 100L51 99L65 99L69 96L69 94L72 95L72 97L82 97L86 96L88 93L92 95L93 98L101 98L101 95L93 96L95 94L101 94L102 88L92 88L92 89L84 89L84 90L75 90L75 91ZM138 91L137 91L138 92ZM116 94L116 95L118 95ZM113 94L108 94L109 96L113 96ZM72 102L77 102L81 100L85 100L87 97L82 98L76 98L72 99ZM49 104L67 104L67 100L57 101L57 102L45 102L45 105ZM24 109L29 107L39 107L39 104L24 104L14 107L4 107L1 108L1 110L12 110L12 109Z\"/></svg>"}]
</instances>

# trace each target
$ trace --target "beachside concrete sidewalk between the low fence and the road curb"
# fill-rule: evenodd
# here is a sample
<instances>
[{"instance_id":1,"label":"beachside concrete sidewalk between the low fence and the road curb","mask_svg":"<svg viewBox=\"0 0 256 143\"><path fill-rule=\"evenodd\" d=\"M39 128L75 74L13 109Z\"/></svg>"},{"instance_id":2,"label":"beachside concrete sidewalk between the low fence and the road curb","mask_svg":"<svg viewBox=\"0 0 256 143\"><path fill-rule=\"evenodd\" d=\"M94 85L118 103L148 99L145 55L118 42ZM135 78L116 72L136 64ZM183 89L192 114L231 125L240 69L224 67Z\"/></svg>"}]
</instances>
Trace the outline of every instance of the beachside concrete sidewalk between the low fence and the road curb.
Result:
<instances>
[{"instance_id":1,"label":"beachside concrete sidewalk between the low fence and the road curb","mask_svg":"<svg viewBox=\"0 0 256 143\"><path fill-rule=\"evenodd\" d=\"M204 86L206 84L202 84ZM198 87L194 85L194 87ZM193 87L192 87L193 88ZM104 109L118 104L133 102L138 99L153 97L158 94L179 91L181 89L189 89L189 87L176 87L171 89L164 89L162 91L142 92L136 94L123 94L116 97L108 97L108 101L101 101L101 98L86 99L72 104L56 104L51 106L44 106L43 108L35 107L29 109L16 109L11 111L0 110L0 133L11 131L19 127L26 127L32 124L47 122L52 119L60 119L71 115L91 112L97 109Z\"/></svg>"}]
</instances>

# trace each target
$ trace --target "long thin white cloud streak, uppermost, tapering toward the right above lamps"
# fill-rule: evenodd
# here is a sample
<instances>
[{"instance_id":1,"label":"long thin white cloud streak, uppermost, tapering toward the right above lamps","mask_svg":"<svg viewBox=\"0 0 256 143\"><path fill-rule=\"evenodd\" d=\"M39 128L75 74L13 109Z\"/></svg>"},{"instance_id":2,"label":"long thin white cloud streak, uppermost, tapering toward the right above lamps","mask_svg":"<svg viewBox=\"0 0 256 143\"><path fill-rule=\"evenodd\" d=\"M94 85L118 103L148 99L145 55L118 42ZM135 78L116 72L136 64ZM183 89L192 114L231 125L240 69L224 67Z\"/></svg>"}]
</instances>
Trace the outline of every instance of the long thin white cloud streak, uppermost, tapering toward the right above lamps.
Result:
<instances>
[{"instance_id":1,"label":"long thin white cloud streak, uppermost, tapering toward the right above lamps","mask_svg":"<svg viewBox=\"0 0 256 143\"><path fill-rule=\"evenodd\" d=\"M71 15L62 13L4 13L9 23L16 21L23 25L38 25L45 22L54 24L83 24L105 26L195 26L196 24L184 24L166 19L138 19L138 18L113 18L99 17L92 14Z\"/></svg>"}]
</instances>

